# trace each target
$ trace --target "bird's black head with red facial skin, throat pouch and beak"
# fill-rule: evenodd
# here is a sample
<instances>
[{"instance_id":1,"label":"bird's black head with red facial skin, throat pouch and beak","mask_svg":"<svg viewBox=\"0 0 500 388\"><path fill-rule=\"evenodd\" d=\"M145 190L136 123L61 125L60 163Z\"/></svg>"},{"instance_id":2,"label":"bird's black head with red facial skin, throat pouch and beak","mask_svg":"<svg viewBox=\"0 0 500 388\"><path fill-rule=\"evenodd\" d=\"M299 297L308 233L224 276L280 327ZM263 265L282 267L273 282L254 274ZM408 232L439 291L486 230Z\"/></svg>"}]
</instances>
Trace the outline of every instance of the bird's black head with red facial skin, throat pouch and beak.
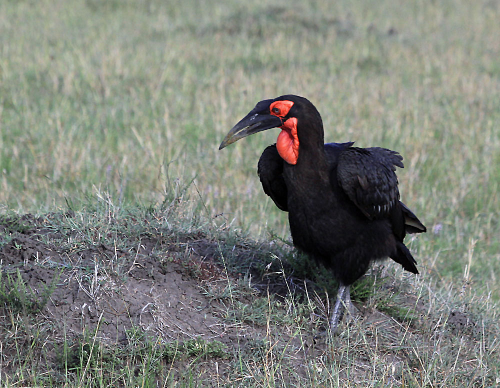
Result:
<instances>
[{"instance_id":1,"label":"bird's black head with red facial skin, throat pouch and beak","mask_svg":"<svg viewBox=\"0 0 500 388\"><path fill-rule=\"evenodd\" d=\"M297 126L300 128L297 130ZM288 94L257 102L255 107L227 133L219 149L253 133L280 128L276 149L289 164L296 164L299 146L323 142L323 125L318 111L306 98Z\"/></svg>"}]
</instances>

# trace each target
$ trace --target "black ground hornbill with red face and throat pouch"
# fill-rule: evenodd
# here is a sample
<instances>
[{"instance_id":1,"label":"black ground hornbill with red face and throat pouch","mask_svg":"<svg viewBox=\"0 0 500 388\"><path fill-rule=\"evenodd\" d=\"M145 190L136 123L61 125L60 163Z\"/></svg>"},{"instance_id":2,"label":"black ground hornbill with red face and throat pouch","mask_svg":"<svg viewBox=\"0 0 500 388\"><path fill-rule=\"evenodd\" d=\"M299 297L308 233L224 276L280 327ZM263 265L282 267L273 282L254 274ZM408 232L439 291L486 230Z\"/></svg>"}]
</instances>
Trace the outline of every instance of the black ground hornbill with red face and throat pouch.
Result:
<instances>
[{"instance_id":1,"label":"black ground hornbill with red face and throat pouch","mask_svg":"<svg viewBox=\"0 0 500 388\"><path fill-rule=\"evenodd\" d=\"M323 141L323 123L309 100L284 95L258 102L219 149L269 128L276 143L262 152L257 173L264 192L288 212L293 245L331 269L339 282L330 317L336 331L349 286L371 261L390 257L418 274L403 239L425 227L399 201L396 166L402 157L385 148L357 148Z\"/></svg>"}]
</instances>

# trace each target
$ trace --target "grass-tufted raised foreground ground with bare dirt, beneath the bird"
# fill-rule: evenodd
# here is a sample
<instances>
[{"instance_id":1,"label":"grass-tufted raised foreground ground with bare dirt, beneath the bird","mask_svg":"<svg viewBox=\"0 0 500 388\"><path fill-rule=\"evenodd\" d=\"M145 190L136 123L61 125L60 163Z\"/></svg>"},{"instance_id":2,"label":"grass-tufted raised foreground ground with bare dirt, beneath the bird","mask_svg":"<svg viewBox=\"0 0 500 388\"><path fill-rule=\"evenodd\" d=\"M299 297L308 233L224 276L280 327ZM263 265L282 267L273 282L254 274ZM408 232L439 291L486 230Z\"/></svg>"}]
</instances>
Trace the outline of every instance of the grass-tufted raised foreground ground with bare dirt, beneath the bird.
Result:
<instances>
[{"instance_id":1,"label":"grass-tufted raised foreground ground with bare dirt, beneath the bird","mask_svg":"<svg viewBox=\"0 0 500 388\"><path fill-rule=\"evenodd\" d=\"M72 214L10 219L5 247L36 243L39 253L24 264L2 264L2 276L15 270L17 280L4 283L0 296L6 287L25 294L0 307L4 387L498 383L498 311L490 296L467 284L375 267L353 287L360 315L332 337L324 331L332 290L323 285L330 276L295 271L307 259L287 245L235 235L216 218L200 226L189 201L163 208L121 208L112 201ZM29 232L15 228L21 223ZM165 271L167 282L183 282L173 299L155 291L165 287ZM29 277L43 273L57 277L48 286ZM66 289L74 298L69 305ZM158 296L133 302L144 295ZM177 298L180 309L169 310ZM169 315L186 309L191 315L184 323ZM142 320L144 311L155 319ZM116 326L114 340L113 322L123 315L126 330ZM199 317L206 323L201 331L191 323ZM86 324L71 325L75 318ZM175 322L178 330L171 328Z\"/></svg>"}]
</instances>

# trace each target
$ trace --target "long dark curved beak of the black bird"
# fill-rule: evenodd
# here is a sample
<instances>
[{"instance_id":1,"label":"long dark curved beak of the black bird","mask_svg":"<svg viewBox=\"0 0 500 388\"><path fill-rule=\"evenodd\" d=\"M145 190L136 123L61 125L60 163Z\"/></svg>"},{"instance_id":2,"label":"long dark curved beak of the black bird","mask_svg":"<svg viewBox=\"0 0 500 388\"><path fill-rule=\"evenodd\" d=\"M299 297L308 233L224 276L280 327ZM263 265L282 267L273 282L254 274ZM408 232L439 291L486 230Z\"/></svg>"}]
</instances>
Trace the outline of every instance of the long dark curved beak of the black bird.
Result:
<instances>
[{"instance_id":1,"label":"long dark curved beak of the black bird","mask_svg":"<svg viewBox=\"0 0 500 388\"><path fill-rule=\"evenodd\" d=\"M242 139L243 137L252 135L266 129L280 127L282 121L279 117L272 114L256 113L255 109L250 111L243 117L231 130L225 135L224 140L220 143L219 149L222 149L229 144Z\"/></svg>"}]
</instances>

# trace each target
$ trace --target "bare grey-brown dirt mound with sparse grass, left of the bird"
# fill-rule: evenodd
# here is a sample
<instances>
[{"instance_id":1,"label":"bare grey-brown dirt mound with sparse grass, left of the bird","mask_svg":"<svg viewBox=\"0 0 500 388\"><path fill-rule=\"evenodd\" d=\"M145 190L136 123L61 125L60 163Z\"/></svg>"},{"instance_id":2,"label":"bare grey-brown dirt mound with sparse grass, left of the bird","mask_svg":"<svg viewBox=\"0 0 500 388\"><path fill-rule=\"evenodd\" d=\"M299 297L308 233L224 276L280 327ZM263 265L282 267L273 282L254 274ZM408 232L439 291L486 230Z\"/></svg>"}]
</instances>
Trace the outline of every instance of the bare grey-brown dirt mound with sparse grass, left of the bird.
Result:
<instances>
[{"instance_id":1,"label":"bare grey-brown dirt mound with sparse grass, left of the bird","mask_svg":"<svg viewBox=\"0 0 500 388\"><path fill-rule=\"evenodd\" d=\"M12 308L18 308L44 323L46 330L39 335L45 345L39 351L49 369L57 368L60 344L76 344L85 336L120 346L140 330L158 343L216 340L243 346L247 330L253 336L260 332L249 325L228 325L220 303L200 287L224 288L228 282L209 258L216 254L216 244L203 236L182 239L183 252L178 236L175 242L140 237L129 242L129 249L84 246L75 231L54 229L52 217L59 216L4 217L0 224L8 236L0 251L5 285L0 319L7 322ZM64 244L55 244L62 240ZM3 372L15 369L14 345L3 345Z\"/></svg>"}]
</instances>

